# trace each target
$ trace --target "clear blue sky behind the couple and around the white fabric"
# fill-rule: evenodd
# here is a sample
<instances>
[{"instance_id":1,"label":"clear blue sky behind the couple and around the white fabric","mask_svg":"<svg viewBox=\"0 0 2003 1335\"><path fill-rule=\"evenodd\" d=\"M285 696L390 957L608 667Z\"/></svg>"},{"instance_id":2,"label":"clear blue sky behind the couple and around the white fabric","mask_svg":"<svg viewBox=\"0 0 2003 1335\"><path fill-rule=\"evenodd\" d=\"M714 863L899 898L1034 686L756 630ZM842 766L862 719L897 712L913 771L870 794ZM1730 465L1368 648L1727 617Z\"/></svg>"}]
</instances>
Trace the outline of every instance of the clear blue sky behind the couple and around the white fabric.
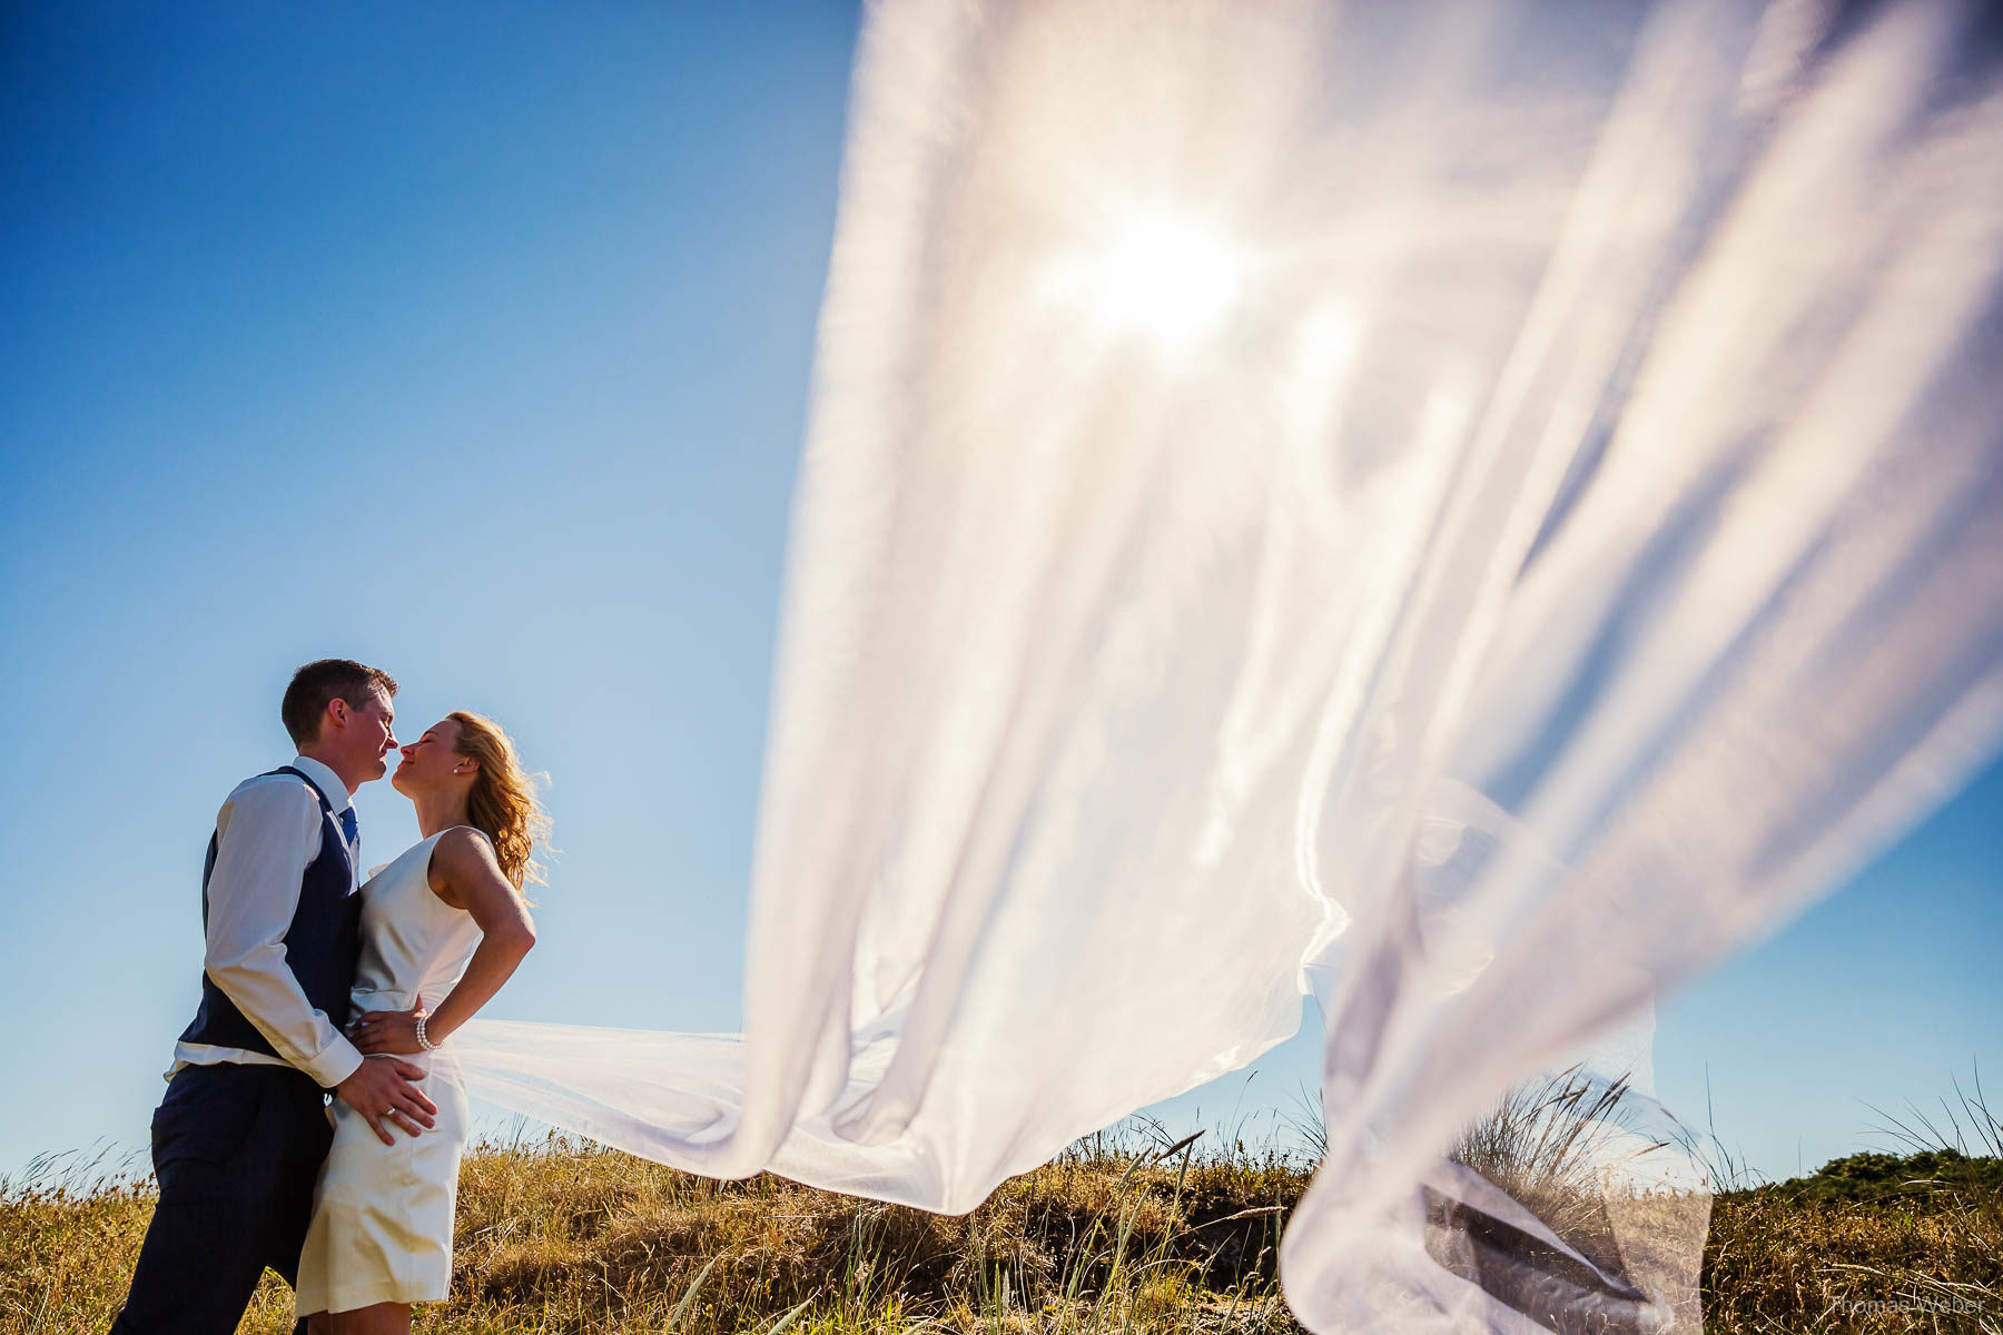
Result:
<instances>
[{"instance_id":1,"label":"clear blue sky behind the couple and around the white fabric","mask_svg":"<svg viewBox=\"0 0 2003 1335\"><path fill-rule=\"evenodd\" d=\"M0 1171L142 1147L214 809L294 664L397 673L553 777L493 1013L735 1029L787 500L857 16L12 6ZM359 799L369 861L409 807ZM2003 1087L2003 769L1662 1009L1664 1099L1769 1173L1859 1099ZM1310 1029L1164 1109L1248 1139Z\"/></svg>"}]
</instances>

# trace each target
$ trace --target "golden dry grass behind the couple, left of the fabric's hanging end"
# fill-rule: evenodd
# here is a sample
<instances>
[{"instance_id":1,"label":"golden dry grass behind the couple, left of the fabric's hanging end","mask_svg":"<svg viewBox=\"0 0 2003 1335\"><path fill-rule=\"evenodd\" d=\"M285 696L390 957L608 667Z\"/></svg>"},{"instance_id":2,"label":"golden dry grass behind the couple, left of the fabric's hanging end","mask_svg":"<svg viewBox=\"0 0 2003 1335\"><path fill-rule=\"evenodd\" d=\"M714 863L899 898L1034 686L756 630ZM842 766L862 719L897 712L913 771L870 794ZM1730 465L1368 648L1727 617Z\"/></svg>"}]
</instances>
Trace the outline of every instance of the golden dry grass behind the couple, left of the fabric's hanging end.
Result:
<instances>
[{"instance_id":1,"label":"golden dry grass behind the couple, left of the fabric's hanging end","mask_svg":"<svg viewBox=\"0 0 2003 1335\"><path fill-rule=\"evenodd\" d=\"M150 1187L86 1169L0 1183L0 1335L102 1331L118 1311ZM953 1217L561 1137L487 1141L461 1169L453 1301L417 1329L1298 1331L1276 1247L1306 1181L1278 1153L1096 1137ZM276 1277L242 1329L290 1329Z\"/></svg>"}]
</instances>

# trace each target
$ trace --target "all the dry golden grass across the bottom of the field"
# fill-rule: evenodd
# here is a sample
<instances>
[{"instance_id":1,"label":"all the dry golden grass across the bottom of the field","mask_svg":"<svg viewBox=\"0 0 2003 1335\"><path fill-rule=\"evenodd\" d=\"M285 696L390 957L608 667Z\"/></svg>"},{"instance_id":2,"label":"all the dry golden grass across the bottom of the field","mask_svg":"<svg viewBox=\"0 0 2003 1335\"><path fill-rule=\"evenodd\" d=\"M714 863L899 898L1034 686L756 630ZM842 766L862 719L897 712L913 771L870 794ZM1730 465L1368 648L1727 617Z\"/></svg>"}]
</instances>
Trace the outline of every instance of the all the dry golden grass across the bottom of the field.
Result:
<instances>
[{"instance_id":1,"label":"all the dry golden grass across the bottom of the field","mask_svg":"<svg viewBox=\"0 0 2003 1335\"><path fill-rule=\"evenodd\" d=\"M1298 1331L1274 1255L1312 1165L1196 1151L1094 1137L945 1217L769 1175L721 1183L563 1139L489 1141L461 1177L453 1301L421 1309L417 1329ZM1564 1155L1544 1163L1544 1185L1562 1179ZM1727 1191L1705 1249L1705 1327L1995 1333L1993 1183L1899 1181L1869 1199L1801 1183ZM106 1329L148 1213L148 1183L100 1163L52 1161L0 1183L0 1335ZM242 1329L280 1335L288 1313L266 1275Z\"/></svg>"}]
</instances>

